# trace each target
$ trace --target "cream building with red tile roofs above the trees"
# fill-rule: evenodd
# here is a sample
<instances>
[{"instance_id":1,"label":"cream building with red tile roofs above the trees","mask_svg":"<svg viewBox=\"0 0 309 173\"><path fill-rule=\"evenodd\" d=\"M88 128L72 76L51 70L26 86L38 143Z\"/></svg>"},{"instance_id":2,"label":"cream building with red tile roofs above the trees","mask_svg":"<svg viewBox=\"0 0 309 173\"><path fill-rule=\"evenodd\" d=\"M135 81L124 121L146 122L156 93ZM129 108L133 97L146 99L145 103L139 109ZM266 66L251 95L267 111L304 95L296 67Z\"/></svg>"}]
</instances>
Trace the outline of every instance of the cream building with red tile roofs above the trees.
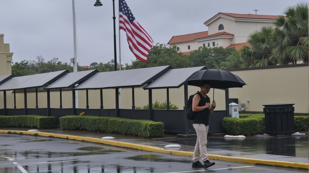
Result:
<instances>
[{"instance_id":1,"label":"cream building with red tile roofs above the trees","mask_svg":"<svg viewBox=\"0 0 309 173\"><path fill-rule=\"evenodd\" d=\"M176 45L184 54L189 54L200 46L235 47L239 50L242 46L249 45L246 40L250 33L264 25L272 25L271 22L277 17L278 15L219 12L204 22L208 31L173 36L167 44Z\"/></svg>"}]
</instances>

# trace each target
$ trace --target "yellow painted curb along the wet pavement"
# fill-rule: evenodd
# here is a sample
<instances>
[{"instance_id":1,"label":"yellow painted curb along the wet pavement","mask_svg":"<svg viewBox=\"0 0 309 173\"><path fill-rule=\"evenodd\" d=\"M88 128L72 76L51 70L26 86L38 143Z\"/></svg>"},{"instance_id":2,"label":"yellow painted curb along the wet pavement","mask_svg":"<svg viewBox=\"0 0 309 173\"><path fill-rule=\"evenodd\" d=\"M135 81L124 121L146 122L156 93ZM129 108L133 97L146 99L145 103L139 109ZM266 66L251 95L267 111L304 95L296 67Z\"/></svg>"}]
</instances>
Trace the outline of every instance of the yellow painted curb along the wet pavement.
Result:
<instances>
[{"instance_id":1,"label":"yellow painted curb along the wet pavement","mask_svg":"<svg viewBox=\"0 0 309 173\"><path fill-rule=\"evenodd\" d=\"M158 152L164 154L172 154L172 155L182 155L182 156L193 156L193 152L190 151L176 151L176 150L168 150L160 147L152 147L148 145L141 145L135 143L127 143L127 142L120 142L120 141L112 141L106 139L97 139L91 137L81 137L81 136L74 136L74 135L61 135L61 134L54 134L54 133L47 133L47 132L37 132L37 131L14 131L14 130L0 130L0 133L8 133L14 134L23 134L27 135L39 135L45 137L54 137L54 138L62 138L62 139L72 139L78 141L86 141L92 143L102 143L106 145L112 145L117 147L126 147L132 148L137 150L143 151L150 151L150 152ZM239 162L239 163L249 163L249 164L262 164L262 165L271 165L271 166L281 166L281 167L293 167L293 168L302 168L308 169L309 163L299 163L299 162L287 162L287 161L276 161L276 160L266 160L266 159L252 159L252 158L243 158L243 157L234 157L234 156L223 156L223 155L215 155L215 154L208 154L209 159L214 160L223 160L223 161L230 161L230 162Z\"/></svg>"}]
</instances>

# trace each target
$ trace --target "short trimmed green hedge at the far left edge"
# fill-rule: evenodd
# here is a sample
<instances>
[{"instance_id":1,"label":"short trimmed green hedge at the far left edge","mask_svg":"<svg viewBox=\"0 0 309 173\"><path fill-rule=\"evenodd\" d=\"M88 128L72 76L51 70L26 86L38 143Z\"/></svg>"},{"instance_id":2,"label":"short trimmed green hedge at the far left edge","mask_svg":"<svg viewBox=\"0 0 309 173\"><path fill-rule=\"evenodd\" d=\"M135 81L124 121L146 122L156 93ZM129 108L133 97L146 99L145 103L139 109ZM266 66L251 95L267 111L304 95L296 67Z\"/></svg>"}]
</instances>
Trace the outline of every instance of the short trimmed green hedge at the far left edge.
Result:
<instances>
[{"instance_id":1,"label":"short trimmed green hedge at the far left edge","mask_svg":"<svg viewBox=\"0 0 309 173\"><path fill-rule=\"evenodd\" d=\"M55 117L40 115L0 116L0 127L37 127L51 129L55 126Z\"/></svg>"}]
</instances>

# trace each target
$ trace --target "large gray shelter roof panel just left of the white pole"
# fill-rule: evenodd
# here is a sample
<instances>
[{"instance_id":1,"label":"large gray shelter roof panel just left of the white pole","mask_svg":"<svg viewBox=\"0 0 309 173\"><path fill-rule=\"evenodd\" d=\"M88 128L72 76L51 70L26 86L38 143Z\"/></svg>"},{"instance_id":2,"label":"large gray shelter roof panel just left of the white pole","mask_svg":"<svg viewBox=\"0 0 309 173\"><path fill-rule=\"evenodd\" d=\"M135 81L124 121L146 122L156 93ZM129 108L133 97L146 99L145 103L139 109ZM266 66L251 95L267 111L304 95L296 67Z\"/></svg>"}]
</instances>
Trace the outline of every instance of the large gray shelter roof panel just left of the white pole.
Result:
<instances>
[{"instance_id":1,"label":"large gray shelter roof panel just left of the white pole","mask_svg":"<svg viewBox=\"0 0 309 173\"><path fill-rule=\"evenodd\" d=\"M0 91L43 87L49 83L54 82L66 73L70 72L68 70L61 70L49 73L14 77L0 85Z\"/></svg>"}]
</instances>

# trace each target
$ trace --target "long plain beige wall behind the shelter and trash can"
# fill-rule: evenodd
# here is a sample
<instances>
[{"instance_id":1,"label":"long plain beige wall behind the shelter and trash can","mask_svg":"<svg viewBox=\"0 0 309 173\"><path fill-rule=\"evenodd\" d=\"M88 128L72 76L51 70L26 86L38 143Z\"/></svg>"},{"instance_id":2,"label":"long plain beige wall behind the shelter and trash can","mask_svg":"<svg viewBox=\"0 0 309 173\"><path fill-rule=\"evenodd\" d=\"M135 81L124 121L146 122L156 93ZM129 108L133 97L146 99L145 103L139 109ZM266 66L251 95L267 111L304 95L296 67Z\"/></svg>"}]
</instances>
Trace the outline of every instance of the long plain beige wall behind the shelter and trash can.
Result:
<instances>
[{"instance_id":1,"label":"long plain beige wall behind the shelter and trash can","mask_svg":"<svg viewBox=\"0 0 309 173\"><path fill-rule=\"evenodd\" d=\"M231 73L242 78L248 86L243 88L230 88L229 98L238 98L238 103L245 103L245 111L263 111L263 104L294 103L295 113L308 113L309 94L309 68L308 66L239 70ZM188 95L199 91L198 87L188 86ZM148 104L148 90L135 88L135 106ZM214 90L214 100L217 110L225 110L225 91ZM13 94L7 91L8 108L13 108ZM100 107L100 90L89 90L89 108ZM152 101L164 102L166 100L166 89L152 90ZM184 106L184 86L179 89L170 89L170 101L179 109ZM11 97L9 96L11 95ZM46 107L46 92L39 92L39 107ZM213 99L213 89L208 96ZM72 107L72 91L62 91L63 108ZM17 108L23 108L23 93L16 93ZM249 100L249 105L247 103ZM115 90L103 90L104 109L115 108ZM58 108L59 91L51 92L51 107ZM79 108L86 108L86 91L78 92ZM121 106L123 109L132 107L131 88L121 89ZM35 107L35 92L28 93L28 107ZM3 108L3 94L0 92L0 108Z\"/></svg>"}]
</instances>

